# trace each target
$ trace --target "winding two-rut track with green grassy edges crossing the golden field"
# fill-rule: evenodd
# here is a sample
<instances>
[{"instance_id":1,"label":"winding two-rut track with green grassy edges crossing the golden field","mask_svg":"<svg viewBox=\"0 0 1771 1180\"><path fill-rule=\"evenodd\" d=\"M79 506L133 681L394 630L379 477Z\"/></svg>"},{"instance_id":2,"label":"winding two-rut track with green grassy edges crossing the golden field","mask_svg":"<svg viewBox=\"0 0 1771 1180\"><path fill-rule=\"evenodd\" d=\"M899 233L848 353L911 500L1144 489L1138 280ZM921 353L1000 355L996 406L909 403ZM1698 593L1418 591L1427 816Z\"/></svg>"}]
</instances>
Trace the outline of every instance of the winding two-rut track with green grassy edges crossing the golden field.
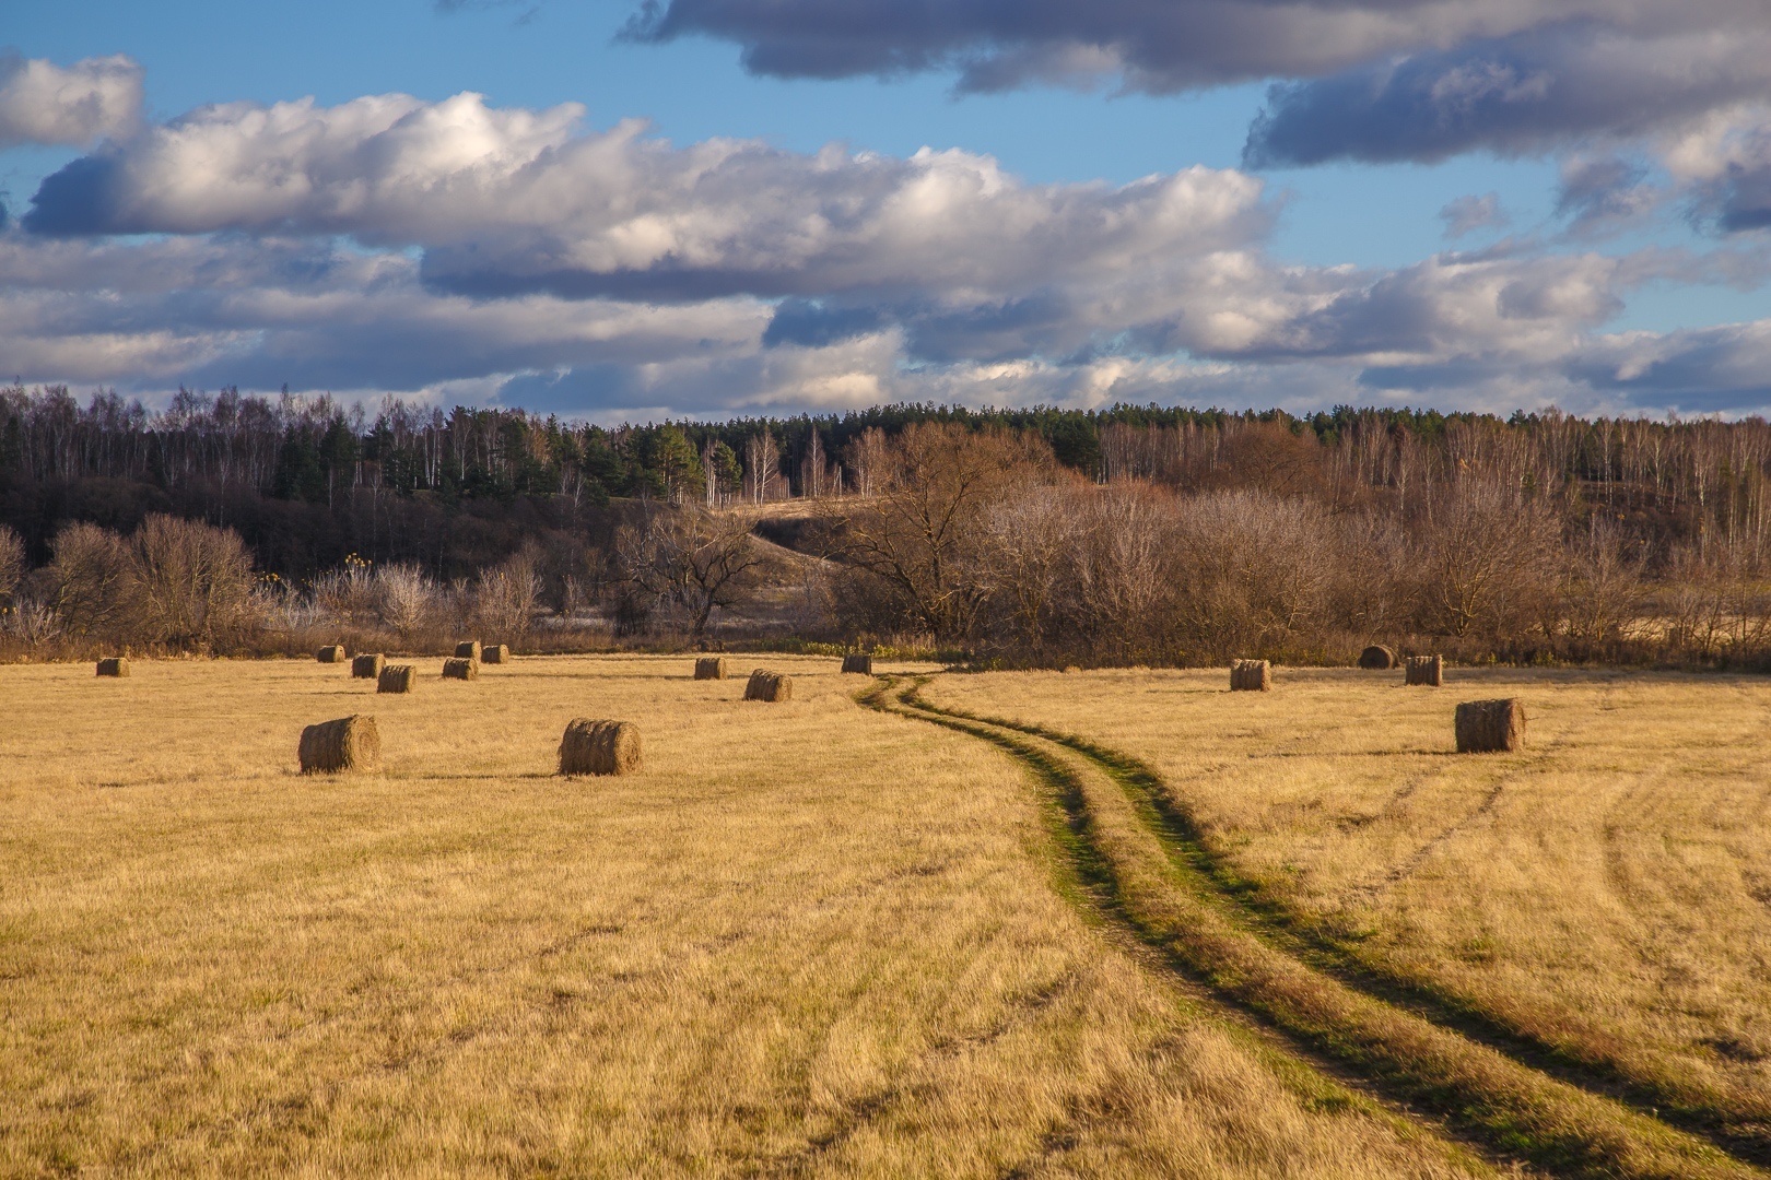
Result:
<instances>
[{"instance_id":1,"label":"winding two-rut track with green grassy edges crossing the golden field","mask_svg":"<svg viewBox=\"0 0 1771 1180\"><path fill-rule=\"evenodd\" d=\"M1075 808L1071 826L1102 867L1116 918L1218 1000L1504 1159L1592 1178L1766 1175L1707 1139L1309 962L1288 945L1296 939L1275 938L1245 895L1227 895L1197 840L1174 839L1155 810L1155 791L1132 789L1125 773L1110 773L1110 754L1034 727L937 709L917 697L923 683L886 679L862 702L994 741L1061 775L1066 807Z\"/></svg>"}]
</instances>

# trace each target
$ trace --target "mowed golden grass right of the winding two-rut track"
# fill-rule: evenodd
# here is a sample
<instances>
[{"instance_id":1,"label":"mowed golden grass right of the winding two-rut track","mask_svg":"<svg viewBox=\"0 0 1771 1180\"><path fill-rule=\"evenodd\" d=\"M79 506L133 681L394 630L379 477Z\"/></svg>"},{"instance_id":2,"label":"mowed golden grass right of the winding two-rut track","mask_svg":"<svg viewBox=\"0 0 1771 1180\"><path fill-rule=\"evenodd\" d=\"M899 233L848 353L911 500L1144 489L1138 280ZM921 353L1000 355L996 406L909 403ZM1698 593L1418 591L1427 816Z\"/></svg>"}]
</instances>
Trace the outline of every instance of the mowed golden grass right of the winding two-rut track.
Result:
<instances>
[{"instance_id":1,"label":"mowed golden grass right of the winding two-rut track","mask_svg":"<svg viewBox=\"0 0 1771 1180\"><path fill-rule=\"evenodd\" d=\"M1771 681L1279 669L1270 693L1226 688L1103 670L924 697L1135 755L1293 929L1643 1106L1771 1143ZM1454 754L1456 702L1500 695L1525 701L1528 748Z\"/></svg>"}]
</instances>

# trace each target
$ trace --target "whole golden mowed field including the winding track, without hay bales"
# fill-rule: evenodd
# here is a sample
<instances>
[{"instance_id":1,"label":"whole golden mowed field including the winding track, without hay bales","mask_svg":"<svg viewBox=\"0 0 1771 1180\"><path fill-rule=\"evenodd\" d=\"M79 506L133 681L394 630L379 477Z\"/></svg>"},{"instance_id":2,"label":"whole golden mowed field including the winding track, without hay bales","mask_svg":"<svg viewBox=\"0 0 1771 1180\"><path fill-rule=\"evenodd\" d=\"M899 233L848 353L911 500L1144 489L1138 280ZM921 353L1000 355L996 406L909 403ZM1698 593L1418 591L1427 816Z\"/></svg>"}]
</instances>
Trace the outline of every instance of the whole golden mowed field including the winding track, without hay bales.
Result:
<instances>
[{"instance_id":1,"label":"whole golden mowed field including the winding track, without hay bales","mask_svg":"<svg viewBox=\"0 0 1771 1180\"><path fill-rule=\"evenodd\" d=\"M758 662L0 669L0 1173L1764 1175L1771 685Z\"/></svg>"}]
</instances>

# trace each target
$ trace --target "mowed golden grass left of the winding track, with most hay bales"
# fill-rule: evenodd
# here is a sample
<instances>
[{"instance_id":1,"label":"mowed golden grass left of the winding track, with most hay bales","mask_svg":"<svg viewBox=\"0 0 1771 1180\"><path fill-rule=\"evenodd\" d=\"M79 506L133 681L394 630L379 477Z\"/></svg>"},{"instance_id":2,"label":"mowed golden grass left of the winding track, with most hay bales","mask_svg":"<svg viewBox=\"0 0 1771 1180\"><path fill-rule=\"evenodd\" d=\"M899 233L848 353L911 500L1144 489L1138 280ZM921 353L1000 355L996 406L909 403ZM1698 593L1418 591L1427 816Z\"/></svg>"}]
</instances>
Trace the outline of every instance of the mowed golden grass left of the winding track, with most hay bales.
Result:
<instances>
[{"instance_id":1,"label":"mowed golden grass left of the winding track, with most hay bales","mask_svg":"<svg viewBox=\"0 0 1771 1180\"><path fill-rule=\"evenodd\" d=\"M0 669L0 1171L1488 1171L1091 922L1015 761L765 662ZM383 773L298 775L349 713Z\"/></svg>"}]
</instances>

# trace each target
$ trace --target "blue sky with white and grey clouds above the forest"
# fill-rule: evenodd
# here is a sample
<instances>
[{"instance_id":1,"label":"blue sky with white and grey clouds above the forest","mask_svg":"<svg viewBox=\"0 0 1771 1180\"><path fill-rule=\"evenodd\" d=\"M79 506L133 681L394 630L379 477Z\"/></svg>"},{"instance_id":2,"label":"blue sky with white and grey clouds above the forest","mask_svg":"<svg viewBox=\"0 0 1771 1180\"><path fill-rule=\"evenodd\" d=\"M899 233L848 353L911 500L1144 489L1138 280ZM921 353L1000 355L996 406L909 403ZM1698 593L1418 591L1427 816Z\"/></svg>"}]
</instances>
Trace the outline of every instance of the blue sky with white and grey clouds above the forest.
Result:
<instances>
[{"instance_id":1,"label":"blue sky with white and grey clouds above the forest","mask_svg":"<svg viewBox=\"0 0 1771 1180\"><path fill-rule=\"evenodd\" d=\"M1771 405L1762 0L0 0L0 373Z\"/></svg>"}]
</instances>

